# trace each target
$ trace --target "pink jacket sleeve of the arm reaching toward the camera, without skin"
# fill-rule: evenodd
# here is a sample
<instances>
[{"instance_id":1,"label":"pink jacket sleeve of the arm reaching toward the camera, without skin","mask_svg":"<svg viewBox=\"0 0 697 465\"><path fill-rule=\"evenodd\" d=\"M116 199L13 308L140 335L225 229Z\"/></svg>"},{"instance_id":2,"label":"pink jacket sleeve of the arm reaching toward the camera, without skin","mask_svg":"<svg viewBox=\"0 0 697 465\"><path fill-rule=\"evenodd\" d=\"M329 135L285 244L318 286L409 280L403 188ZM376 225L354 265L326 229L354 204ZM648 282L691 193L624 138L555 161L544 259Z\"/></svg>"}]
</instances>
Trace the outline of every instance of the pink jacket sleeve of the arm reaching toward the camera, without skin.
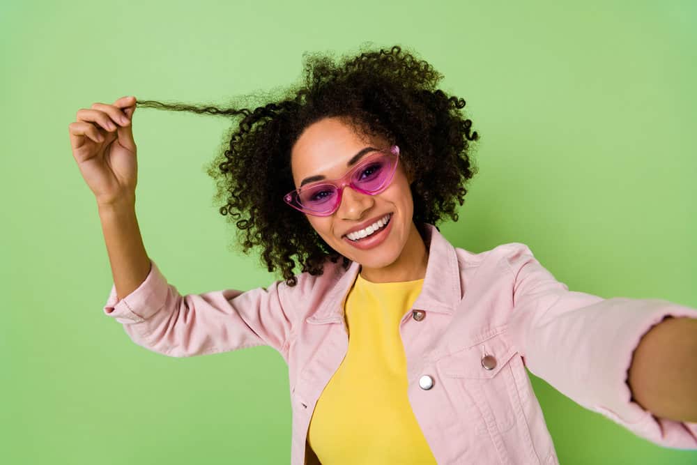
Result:
<instances>
[{"instance_id":1,"label":"pink jacket sleeve of the arm reaching toward the camera, without skin","mask_svg":"<svg viewBox=\"0 0 697 465\"><path fill-rule=\"evenodd\" d=\"M574 402L658 445L697 449L697 423L657 418L631 398L627 372L641 337L697 309L660 299L569 291L527 245L507 245L514 275L510 330L523 363Z\"/></svg>"}]
</instances>

